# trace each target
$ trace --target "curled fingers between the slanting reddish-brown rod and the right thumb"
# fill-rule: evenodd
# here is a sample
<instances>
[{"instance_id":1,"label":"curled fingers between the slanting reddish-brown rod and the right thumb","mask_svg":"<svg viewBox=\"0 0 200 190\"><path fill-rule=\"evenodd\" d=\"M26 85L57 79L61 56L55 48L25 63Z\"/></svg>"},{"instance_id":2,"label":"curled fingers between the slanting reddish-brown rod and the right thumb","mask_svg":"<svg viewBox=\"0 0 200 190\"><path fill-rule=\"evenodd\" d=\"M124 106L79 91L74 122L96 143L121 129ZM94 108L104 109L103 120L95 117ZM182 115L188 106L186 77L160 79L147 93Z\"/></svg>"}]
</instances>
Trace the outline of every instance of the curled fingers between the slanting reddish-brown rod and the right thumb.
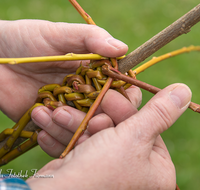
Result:
<instances>
[{"instance_id":1,"label":"curled fingers between the slanting reddish-brown rod and the right thumb","mask_svg":"<svg viewBox=\"0 0 200 190\"><path fill-rule=\"evenodd\" d=\"M126 92L131 102L120 93L108 90L100 104L99 114L95 115L88 123L87 130L91 135L113 127L137 113L137 107L142 99L141 90L137 87L130 87Z\"/></svg>"}]
</instances>

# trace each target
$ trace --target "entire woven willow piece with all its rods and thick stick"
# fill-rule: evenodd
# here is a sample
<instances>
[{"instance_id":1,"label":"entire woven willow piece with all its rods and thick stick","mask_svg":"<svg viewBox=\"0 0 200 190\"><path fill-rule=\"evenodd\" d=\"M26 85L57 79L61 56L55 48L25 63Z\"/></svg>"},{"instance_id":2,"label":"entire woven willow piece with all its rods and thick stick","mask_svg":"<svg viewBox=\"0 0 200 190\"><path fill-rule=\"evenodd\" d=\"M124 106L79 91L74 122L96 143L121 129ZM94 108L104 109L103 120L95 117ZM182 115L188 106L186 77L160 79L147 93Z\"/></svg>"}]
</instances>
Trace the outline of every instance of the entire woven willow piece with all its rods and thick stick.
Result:
<instances>
[{"instance_id":1,"label":"entire woven willow piece with all its rods and thick stick","mask_svg":"<svg viewBox=\"0 0 200 190\"><path fill-rule=\"evenodd\" d=\"M88 24L95 25L92 18L82 9L76 0L69 0L69 2L76 8ZM172 25L145 42L142 46L138 47L126 58L122 59L119 62L119 70L122 73L126 72L179 35L189 32L190 28L200 21L199 13L200 4ZM129 70L126 75L123 75L118 71L118 63L114 58L108 60L105 57L95 54L89 54L86 56L80 55L80 60L87 60L90 58L101 60L91 61L86 66L80 65L75 74L67 75L63 79L62 84L49 84L39 89L36 103L24 114L24 116L12 129L5 129L2 133L0 133L0 165L8 163L37 145L37 134L41 129L37 126L29 126L28 123L31 120L31 112L35 107L44 105L49 109L54 110L57 107L68 105L87 113L69 145L60 156L60 158L63 158L73 148L75 142L86 129L89 119L94 114L104 94L109 88L119 91L126 98L128 98L128 96L126 95L125 89L131 84L139 86L140 88L155 94L160 91L159 88L138 81L135 79L135 75L157 62L160 62L161 60L190 51L200 51L200 47L191 46L158 58L154 57L146 64L143 64L141 67L135 69L134 72ZM79 55L67 54L64 56L39 58L1 58L0 64L77 60L77 56L79 57ZM92 57L88 58L88 56ZM200 113L200 105L198 104L191 102L189 108ZM176 189L179 189L177 185Z\"/></svg>"}]
</instances>

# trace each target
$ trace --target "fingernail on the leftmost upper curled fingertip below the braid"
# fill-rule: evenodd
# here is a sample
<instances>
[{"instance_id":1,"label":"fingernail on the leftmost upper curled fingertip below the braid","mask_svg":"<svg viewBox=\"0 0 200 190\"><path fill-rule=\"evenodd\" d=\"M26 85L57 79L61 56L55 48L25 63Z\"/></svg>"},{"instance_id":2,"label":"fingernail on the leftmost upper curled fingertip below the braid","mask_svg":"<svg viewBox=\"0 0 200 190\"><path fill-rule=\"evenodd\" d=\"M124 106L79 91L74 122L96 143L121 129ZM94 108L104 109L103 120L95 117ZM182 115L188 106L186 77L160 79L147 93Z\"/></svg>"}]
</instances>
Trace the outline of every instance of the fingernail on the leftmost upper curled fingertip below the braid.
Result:
<instances>
[{"instance_id":1,"label":"fingernail on the leftmost upper curled fingertip below the braid","mask_svg":"<svg viewBox=\"0 0 200 190\"><path fill-rule=\"evenodd\" d=\"M51 117L43 109L40 109L38 112L32 115L32 119L36 124L38 124L43 129L48 127L52 121Z\"/></svg>"}]
</instances>

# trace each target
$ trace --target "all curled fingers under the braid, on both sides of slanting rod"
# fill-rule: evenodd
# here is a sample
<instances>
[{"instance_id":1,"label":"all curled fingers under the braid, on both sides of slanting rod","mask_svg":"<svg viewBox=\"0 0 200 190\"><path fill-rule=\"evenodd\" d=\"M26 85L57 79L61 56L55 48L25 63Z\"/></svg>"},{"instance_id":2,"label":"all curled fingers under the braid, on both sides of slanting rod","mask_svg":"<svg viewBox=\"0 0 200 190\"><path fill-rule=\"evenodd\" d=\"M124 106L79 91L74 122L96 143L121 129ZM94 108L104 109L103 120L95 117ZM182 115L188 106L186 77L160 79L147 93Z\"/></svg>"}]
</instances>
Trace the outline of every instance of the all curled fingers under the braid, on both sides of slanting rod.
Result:
<instances>
[{"instance_id":1,"label":"all curled fingers under the braid, on both sides of slanting rod","mask_svg":"<svg viewBox=\"0 0 200 190\"><path fill-rule=\"evenodd\" d=\"M126 90L126 93L131 102L117 91L108 90L95 112L95 117L89 121L87 130L78 140L78 144L98 131L114 127L137 112L137 108L142 101L140 89L131 86ZM107 112L109 112L108 115ZM112 114L112 117L109 116L110 114ZM36 107L32 111L31 117L33 122L43 129L38 134L38 144L47 154L58 158L85 115L86 113L70 106L58 107L54 111L45 106Z\"/></svg>"}]
</instances>

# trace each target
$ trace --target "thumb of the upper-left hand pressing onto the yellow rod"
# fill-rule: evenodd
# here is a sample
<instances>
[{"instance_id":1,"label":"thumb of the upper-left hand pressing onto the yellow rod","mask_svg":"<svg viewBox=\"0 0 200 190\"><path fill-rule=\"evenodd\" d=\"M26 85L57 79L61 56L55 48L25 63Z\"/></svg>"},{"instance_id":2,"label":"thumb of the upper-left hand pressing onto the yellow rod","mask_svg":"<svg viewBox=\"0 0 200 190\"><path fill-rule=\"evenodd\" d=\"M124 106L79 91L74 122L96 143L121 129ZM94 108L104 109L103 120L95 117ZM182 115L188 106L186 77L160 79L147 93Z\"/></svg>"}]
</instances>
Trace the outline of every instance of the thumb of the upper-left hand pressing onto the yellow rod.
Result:
<instances>
[{"instance_id":1,"label":"thumb of the upper-left hand pressing onto the yellow rod","mask_svg":"<svg viewBox=\"0 0 200 190\"><path fill-rule=\"evenodd\" d=\"M118 57L126 54L128 50L126 44L95 25L51 22L47 24L49 30L42 27L42 36L61 52L97 53L106 57Z\"/></svg>"}]
</instances>

